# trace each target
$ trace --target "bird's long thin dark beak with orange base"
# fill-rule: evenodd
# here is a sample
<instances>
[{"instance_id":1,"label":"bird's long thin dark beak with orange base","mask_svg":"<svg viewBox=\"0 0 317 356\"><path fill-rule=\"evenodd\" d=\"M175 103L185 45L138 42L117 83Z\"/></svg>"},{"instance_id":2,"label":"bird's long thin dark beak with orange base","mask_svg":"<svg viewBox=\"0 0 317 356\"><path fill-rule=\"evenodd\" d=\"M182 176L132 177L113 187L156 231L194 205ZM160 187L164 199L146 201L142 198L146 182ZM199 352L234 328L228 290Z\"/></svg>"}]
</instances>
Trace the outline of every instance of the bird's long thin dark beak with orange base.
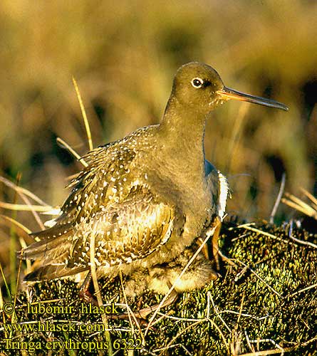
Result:
<instances>
[{"instance_id":1,"label":"bird's long thin dark beak with orange base","mask_svg":"<svg viewBox=\"0 0 317 356\"><path fill-rule=\"evenodd\" d=\"M220 96L220 100L227 101L230 99L234 99L234 100L247 101L249 103L269 106L270 108L276 108L285 111L289 110L289 108L286 105L279 103L278 101L261 98L260 96L244 94L237 90L233 90L226 87L224 87L222 90L217 90L217 94Z\"/></svg>"}]
</instances>

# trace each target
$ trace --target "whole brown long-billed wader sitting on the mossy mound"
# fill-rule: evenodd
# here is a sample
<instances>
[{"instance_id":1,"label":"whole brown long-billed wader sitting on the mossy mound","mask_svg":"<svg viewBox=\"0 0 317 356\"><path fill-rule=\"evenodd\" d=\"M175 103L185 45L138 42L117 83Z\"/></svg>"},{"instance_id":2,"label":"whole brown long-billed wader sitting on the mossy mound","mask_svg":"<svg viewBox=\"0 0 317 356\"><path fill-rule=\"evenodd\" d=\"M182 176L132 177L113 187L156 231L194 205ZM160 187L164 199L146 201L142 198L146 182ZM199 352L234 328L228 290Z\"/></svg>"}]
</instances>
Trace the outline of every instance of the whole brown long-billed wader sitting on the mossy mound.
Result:
<instances>
[{"instance_id":1,"label":"whole brown long-billed wader sitting on the mossy mound","mask_svg":"<svg viewBox=\"0 0 317 356\"><path fill-rule=\"evenodd\" d=\"M227 100L288 110L275 100L227 88L207 64L181 66L159 124L83 156L88 165L69 185L60 215L48 229L32 233L37 241L19 251L20 258L38 260L25 281L87 273L87 286L93 241L98 278L115 278L120 272L137 276L146 270L150 287L155 285L153 271L160 271L157 290L166 289L176 268L171 263L178 258L177 266L183 265L181 256L187 256L193 241L204 239L210 226L221 226L224 218L229 184L205 158L204 132L209 113ZM217 231L212 238L215 260ZM200 254L198 259L207 266L202 268L205 276L217 276L207 257ZM194 288L189 285L185 290Z\"/></svg>"}]
</instances>

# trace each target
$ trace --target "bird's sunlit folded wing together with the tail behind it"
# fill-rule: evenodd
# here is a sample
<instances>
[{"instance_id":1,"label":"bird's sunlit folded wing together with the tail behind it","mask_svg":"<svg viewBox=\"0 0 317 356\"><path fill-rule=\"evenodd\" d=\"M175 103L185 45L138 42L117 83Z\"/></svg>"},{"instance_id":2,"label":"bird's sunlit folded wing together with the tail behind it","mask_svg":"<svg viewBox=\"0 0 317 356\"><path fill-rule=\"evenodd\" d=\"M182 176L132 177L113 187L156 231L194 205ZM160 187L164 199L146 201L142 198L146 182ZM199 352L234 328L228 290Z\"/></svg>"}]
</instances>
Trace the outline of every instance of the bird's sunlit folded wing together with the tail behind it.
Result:
<instances>
[{"instance_id":1,"label":"bird's sunlit folded wing together with the tail behind it","mask_svg":"<svg viewBox=\"0 0 317 356\"><path fill-rule=\"evenodd\" d=\"M145 258L166 244L173 231L175 209L147 189L135 187L128 199L110 204L77 229L52 239L40 236L21 251L22 258L41 258L28 281L68 276L89 269L95 238L95 264L110 267ZM43 233L39 233L43 234Z\"/></svg>"}]
</instances>

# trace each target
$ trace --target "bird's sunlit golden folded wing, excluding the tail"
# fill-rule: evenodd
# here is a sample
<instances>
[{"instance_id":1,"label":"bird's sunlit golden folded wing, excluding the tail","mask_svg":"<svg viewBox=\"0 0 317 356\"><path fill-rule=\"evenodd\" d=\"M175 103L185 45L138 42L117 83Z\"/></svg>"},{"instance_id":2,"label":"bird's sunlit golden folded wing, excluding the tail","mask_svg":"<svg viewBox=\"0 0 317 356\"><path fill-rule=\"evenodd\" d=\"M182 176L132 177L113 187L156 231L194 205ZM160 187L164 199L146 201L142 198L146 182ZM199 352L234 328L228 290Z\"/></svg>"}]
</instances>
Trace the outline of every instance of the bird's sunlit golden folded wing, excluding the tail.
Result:
<instances>
[{"instance_id":1,"label":"bird's sunlit golden folded wing, excluding the tail","mask_svg":"<svg viewBox=\"0 0 317 356\"><path fill-rule=\"evenodd\" d=\"M74 263L88 263L90 239L95 234L95 263L114 266L150 255L166 244L173 231L175 209L146 189L136 187L131 197L115 203L90 219L76 236Z\"/></svg>"}]
</instances>

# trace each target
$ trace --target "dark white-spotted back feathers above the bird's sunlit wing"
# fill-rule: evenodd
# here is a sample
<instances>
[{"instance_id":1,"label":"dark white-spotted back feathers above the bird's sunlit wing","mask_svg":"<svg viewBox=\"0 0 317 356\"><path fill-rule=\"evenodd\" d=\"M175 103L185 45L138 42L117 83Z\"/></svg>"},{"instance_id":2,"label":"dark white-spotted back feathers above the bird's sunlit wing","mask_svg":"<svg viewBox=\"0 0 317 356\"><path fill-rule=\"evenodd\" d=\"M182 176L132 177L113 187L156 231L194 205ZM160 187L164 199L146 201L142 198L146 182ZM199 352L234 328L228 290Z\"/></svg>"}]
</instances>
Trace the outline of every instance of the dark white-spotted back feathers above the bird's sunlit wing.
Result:
<instances>
[{"instance_id":1,"label":"dark white-spotted back feathers above the bird's sunlit wing","mask_svg":"<svg viewBox=\"0 0 317 356\"><path fill-rule=\"evenodd\" d=\"M130 189L130 165L135 151L122 149L120 142L98 147L83 158L88 162L68 187L72 188L61 207L61 214L55 224L46 232L53 234L63 226L72 226L101 211L104 206L122 201ZM38 236L41 239L41 236Z\"/></svg>"}]
</instances>

